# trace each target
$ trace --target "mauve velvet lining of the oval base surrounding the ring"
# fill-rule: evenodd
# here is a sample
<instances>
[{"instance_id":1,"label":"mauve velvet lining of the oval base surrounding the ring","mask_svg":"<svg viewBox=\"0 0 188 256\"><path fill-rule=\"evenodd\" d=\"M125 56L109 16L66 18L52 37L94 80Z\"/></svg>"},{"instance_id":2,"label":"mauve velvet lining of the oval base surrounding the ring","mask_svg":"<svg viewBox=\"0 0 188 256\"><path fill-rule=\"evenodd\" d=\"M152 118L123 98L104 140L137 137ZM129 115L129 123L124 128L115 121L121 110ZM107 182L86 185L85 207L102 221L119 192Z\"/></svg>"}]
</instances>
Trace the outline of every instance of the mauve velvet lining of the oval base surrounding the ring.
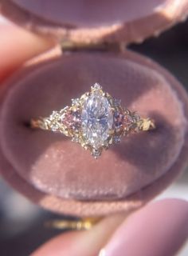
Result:
<instances>
[{"instance_id":1,"label":"mauve velvet lining of the oval base surrounding the ring","mask_svg":"<svg viewBox=\"0 0 188 256\"><path fill-rule=\"evenodd\" d=\"M100 82L124 106L156 121L157 129L124 138L93 159L61 134L30 130L29 118L69 105ZM1 113L3 154L38 190L61 198L126 198L155 182L182 150L182 103L158 72L119 56L74 54L36 67L7 90Z\"/></svg>"}]
</instances>

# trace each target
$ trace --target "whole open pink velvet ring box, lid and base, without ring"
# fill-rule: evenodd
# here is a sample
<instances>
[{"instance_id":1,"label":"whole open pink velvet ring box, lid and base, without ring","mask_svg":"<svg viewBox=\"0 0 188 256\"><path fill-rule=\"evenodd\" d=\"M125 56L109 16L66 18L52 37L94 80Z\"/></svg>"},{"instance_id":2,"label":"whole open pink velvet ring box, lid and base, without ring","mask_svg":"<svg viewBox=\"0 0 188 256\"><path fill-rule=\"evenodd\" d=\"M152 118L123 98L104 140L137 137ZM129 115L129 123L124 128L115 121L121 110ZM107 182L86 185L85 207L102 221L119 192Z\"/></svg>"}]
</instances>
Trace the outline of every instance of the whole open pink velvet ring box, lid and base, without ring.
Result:
<instances>
[{"instance_id":1,"label":"whole open pink velvet ring box, lid and base, without ring","mask_svg":"<svg viewBox=\"0 0 188 256\"><path fill-rule=\"evenodd\" d=\"M125 46L182 21L188 1L0 0L0 8L18 25L53 37L58 49L1 86L6 181L49 210L80 217L128 214L170 185L187 162L187 95L162 66ZM123 106L155 119L157 128L124 138L96 160L61 134L25 126L95 82Z\"/></svg>"}]
</instances>

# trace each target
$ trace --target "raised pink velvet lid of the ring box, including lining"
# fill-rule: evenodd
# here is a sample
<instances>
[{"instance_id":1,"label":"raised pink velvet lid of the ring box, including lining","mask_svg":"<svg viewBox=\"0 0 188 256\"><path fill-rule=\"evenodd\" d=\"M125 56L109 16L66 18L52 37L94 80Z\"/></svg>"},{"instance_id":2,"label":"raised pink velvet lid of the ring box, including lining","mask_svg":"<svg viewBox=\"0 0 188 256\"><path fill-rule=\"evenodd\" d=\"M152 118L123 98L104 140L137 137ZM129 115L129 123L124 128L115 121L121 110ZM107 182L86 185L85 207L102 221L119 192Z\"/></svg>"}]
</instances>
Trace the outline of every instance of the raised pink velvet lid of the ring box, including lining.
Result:
<instances>
[{"instance_id":1,"label":"raised pink velvet lid of the ring box, including lining","mask_svg":"<svg viewBox=\"0 0 188 256\"><path fill-rule=\"evenodd\" d=\"M73 44L143 42L188 14L188 1L0 0L6 18L40 34Z\"/></svg>"}]
</instances>

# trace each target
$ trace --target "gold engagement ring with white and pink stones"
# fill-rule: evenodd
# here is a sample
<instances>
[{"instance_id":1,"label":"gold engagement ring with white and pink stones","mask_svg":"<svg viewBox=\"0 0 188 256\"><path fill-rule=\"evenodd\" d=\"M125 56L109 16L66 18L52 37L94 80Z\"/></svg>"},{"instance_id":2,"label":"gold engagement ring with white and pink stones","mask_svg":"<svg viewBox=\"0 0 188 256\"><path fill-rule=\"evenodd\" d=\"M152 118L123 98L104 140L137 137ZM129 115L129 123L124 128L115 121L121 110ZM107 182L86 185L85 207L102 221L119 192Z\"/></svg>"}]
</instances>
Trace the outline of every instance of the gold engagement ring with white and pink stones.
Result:
<instances>
[{"instance_id":1,"label":"gold engagement ring with white and pink stones","mask_svg":"<svg viewBox=\"0 0 188 256\"><path fill-rule=\"evenodd\" d=\"M72 99L71 106L53 111L48 118L32 119L31 127L64 134L98 158L123 136L154 129L155 122L127 110L95 83L90 92Z\"/></svg>"}]
</instances>

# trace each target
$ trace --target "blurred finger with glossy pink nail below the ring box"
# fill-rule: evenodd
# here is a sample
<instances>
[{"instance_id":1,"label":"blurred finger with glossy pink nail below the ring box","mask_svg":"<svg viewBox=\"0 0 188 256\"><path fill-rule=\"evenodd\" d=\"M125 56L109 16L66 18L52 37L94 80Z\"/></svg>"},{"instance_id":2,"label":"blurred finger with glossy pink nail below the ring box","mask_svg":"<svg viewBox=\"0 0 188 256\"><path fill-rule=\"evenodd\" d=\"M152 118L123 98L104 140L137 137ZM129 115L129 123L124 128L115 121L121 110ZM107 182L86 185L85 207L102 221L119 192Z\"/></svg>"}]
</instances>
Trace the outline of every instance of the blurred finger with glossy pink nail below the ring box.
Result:
<instances>
[{"instance_id":1,"label":"blurred finger with glossy pink nail below the ring box","mask_svg":"<svg viewBox=\"0 0 188 256\"><path fill-rule=\"evenodd\" d=\"M61 234L32 256L174 255L188 236L188 203L181 200L155 202L123 219L111 216L92 230Z\"/></svg>"}]
</instances>

